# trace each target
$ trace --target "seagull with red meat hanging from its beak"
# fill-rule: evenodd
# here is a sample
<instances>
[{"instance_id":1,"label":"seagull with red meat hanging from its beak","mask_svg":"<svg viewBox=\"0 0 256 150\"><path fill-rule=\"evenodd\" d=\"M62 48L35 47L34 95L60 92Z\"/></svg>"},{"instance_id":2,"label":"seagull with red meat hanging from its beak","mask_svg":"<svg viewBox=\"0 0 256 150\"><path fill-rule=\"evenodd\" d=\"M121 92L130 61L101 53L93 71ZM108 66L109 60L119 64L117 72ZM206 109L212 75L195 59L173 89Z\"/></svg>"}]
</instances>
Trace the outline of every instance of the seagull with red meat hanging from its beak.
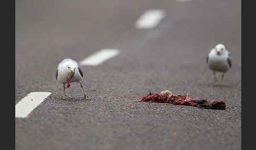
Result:
<instances>
[{"instance_id":1,"label":"seagull with red meat hanging from its beak","mask_svg":"<svg viewBox=\"0 0 256 150\"><path fill-rule=\"evenodd\" d=\"M62 99L66 99L65 89L70 87L69 82L77 82L80 83L81 88L84 92L83 85L81 80L83 80L83 71L75 60L72 59L64 59L58 64L58 68L55 74L56 80L63 84L64 97ZM68 82L68 80L70 80ZM65 84L67 83L67 87ZM84 92L84 98L91 98Z\"/></svg>"}]
</instances>

